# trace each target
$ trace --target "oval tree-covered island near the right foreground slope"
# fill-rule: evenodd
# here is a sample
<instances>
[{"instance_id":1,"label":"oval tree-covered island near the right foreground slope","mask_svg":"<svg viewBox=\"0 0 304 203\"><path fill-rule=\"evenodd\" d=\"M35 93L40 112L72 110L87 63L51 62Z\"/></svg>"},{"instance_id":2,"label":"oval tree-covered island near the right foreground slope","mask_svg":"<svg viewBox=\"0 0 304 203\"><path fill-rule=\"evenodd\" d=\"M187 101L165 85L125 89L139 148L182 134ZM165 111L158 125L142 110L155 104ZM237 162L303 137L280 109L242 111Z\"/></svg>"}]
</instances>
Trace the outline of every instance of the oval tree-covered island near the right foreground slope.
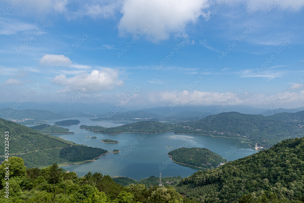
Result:
<instances>
[{"instance_id":1,"label":"oval tree-covered island near the right foreground slope","mask_svg":"<svg viewBox=\"0 0 304 203\"><path fill-rule=\"evenodd\" d=\"M172 150L168 155L176 163L182 163L199 168L212 169L224 165L227 160L206 148L178 148Z\"/></svg>"}]
</instances>

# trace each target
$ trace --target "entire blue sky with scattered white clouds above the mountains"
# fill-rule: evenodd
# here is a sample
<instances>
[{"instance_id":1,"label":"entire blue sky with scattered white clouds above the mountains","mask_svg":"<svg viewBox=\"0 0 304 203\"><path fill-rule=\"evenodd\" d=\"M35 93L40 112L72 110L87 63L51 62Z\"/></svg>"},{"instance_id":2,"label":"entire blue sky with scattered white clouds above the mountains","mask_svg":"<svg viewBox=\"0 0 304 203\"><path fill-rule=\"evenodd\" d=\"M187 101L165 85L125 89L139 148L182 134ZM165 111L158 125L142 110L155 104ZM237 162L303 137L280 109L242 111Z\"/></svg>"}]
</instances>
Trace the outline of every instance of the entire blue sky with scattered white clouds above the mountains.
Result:
<instances>
[{"instance_id":1,"label":"entire blue sky with scattered white clouds above the mountains","mask_svg":"<svg viewBox=\"0 0 304 203\"><path fill-rule=\"evenodd\" d=\"M0 102L302 107L303 6L3 0Z\"/></svg>"}]
</instances>

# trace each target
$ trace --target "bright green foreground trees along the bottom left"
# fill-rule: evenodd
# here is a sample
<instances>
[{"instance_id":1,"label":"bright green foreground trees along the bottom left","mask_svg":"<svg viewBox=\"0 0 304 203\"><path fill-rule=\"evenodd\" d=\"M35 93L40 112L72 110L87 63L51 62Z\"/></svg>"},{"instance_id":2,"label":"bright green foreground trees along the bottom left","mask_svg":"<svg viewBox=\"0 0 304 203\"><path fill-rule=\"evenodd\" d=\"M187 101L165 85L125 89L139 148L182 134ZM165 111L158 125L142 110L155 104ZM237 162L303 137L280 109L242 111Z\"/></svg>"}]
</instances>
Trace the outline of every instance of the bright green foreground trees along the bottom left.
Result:
<instances>
[{"instance_id":1,"label":"bright green foreground trees along the bottom left","mask_svg":"<svg viewBox=\"0 0 304 203\"><path fill-rule=\"evenodd\" d=\"M43 169L27 168L23 160L10 157L9 198L4 197L5 166L0 165L0 202L4 203L194 203L183 198L172 186L129 184L123 187L109 175L88 172L78 177L65 173L57 163Z\"/></svg>"}]
</instances>

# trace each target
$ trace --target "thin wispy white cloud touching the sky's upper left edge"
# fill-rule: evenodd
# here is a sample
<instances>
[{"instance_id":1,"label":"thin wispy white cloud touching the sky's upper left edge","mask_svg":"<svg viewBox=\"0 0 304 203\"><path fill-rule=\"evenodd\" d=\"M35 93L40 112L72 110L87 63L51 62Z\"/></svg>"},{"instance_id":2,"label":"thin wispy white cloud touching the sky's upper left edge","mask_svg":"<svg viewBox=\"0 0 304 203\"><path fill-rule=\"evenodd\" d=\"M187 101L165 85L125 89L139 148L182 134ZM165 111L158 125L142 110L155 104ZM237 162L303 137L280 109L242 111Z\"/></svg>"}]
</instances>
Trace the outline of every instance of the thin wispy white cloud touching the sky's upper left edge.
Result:
<instances>
[{"instance_id":1,"label":"thin wispy white cloud touching the sky's upper left edge","mask_svg":"<svg viewBox=\"0 0 304 203\"><path fill-rule=\"evenodd\" d=\"M0 17L0 35L15 35L22 31L36 29L37 26L23 22L19 19L8 19Z\"/></svg>"}]
</instances>

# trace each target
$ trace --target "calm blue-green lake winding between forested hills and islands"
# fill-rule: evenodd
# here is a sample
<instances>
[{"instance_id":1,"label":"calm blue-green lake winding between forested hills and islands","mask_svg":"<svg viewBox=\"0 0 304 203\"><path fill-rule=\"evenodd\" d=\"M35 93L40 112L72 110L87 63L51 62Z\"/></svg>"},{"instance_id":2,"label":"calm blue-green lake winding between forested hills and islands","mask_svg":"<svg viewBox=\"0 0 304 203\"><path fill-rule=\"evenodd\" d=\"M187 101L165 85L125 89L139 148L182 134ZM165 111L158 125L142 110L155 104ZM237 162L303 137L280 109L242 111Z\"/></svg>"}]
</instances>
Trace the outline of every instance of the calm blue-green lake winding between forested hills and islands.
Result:
<instances>
[{"instance_id":1,"label":"calm blue-green lake winding between forested hills and islands","mask_svg":"<svg viewBox=\"0 0 304 203\"><path fill-rule=\"evenodd\" d=\"M95 133L91 130L79 129L80 125L116 127L132 123L131 121L92 121L90 118L78 119L80 123L74 126L60 126L70 129L75 134L52 134L63 139L92 147L102 148L108 151L117 149L119 153L107 153L95 161L81 164L72 164L64 169L76 171L78 176L84 176L89 171L98 172L110 176L123 176L135 180L150 176L173 177L180 175L188 177L201 170L196 167L174 163L168 156L168 152L180 147L207 148L228 161L246 157L256 151L247 143L241 143L241 139L211 137L204 135L174 134L174 132L148 133L122 133L118 135ZM68 119L52 119L47 124ZM90 137L86 137L90 136ZM91 139L96 136L97 139ZM103 143L100 139L114 139L120 143Z\"/></svg>"}]
</instances>

